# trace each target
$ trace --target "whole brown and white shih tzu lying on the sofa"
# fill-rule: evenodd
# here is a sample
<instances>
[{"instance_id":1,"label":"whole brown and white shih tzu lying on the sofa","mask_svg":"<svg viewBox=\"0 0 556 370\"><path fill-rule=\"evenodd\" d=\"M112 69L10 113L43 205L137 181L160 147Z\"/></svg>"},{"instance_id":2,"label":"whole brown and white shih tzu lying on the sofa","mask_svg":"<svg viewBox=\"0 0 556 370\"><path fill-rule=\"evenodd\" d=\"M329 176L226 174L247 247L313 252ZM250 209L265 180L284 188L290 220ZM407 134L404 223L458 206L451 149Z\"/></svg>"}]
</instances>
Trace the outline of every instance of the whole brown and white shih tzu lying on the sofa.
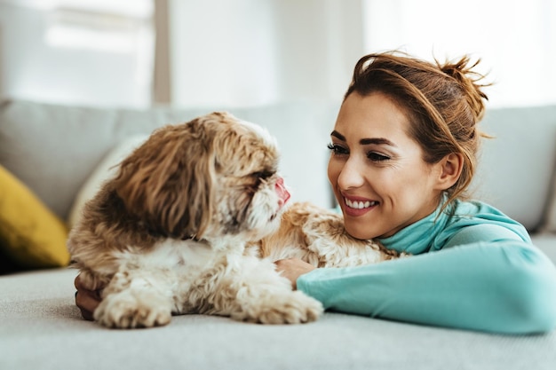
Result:
<instances>
[{"instance_id":1,"label":"whole brown and white shih tzu lying on the sofa","mask_svg":"<svg viewBox=\"0 0 556 370\"><path fill-rule=\"evenodd\" d=\"M286 205L279 153L261 127L207 114L155 130L88 201L68 238L85 287L103 287L94 319L155 327L204 313L303 323L322 304L294 291L273 261L377 263L395 253L354 240L341 216Z\"/></svg>"}]
</instances>

